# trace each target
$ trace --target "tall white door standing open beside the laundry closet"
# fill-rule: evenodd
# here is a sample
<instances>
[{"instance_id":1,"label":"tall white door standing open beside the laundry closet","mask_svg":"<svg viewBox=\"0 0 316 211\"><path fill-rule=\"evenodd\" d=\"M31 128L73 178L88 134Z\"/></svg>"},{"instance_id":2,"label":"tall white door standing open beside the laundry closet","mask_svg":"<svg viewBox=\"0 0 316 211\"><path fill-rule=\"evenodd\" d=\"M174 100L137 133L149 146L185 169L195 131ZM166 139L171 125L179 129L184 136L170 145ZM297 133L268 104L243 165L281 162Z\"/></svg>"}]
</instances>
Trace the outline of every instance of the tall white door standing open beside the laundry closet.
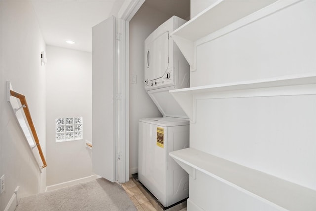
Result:
<instances>
[{"instance_id":1,"label":"tall white door standing open beside the laundry closet","mask_svg":"<svg viewBox=\"0 0 316 211\"><path fill-rule=\"evenodd\" d=\"M92 28L92 167L116 180L115 142L115 17Z\"/></svg>"}]
</instances>

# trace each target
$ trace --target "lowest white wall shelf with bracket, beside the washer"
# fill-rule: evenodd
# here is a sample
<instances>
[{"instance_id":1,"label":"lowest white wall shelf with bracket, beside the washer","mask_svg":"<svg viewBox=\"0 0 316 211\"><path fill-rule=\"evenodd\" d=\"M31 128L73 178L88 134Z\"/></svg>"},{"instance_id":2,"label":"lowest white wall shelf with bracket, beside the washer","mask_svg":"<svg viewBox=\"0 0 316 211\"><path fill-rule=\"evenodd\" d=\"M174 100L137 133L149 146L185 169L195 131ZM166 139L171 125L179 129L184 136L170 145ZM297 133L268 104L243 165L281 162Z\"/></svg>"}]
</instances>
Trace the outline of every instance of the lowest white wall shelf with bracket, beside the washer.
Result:
<instances>
[{"instance_id":1,"label":"lowest white wall shelf with bracket, beside the washer","mask_svg":"<svg viewBox=\"0 0 316 211\"><path fill-rule=\"evenodd\" d=\"M193 179L195 171L199 170L273 206L287 210L316 210L315 190L193 148L170 152L170 156Z\"/></svg>"}]
</instances>

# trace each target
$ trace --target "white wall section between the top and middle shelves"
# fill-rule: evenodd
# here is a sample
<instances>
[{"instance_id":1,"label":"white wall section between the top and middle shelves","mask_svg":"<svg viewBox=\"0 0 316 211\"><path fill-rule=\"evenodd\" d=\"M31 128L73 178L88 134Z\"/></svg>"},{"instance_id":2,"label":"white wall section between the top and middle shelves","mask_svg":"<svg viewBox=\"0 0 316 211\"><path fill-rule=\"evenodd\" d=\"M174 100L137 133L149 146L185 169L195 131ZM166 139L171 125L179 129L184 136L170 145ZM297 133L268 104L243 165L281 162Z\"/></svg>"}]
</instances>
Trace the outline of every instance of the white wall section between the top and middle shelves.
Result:
<instances>
[{"instance_id":1,"label":"white wall section between the top and middle shelves","mask_svg":"<svg viewBox=\"0 0 316 211\"><path fill-rule=\"evenodd\" d=\"M197 46L191 86L314 71L314 23L315 10L302 3Z\"/></svg>"}]
</instances>

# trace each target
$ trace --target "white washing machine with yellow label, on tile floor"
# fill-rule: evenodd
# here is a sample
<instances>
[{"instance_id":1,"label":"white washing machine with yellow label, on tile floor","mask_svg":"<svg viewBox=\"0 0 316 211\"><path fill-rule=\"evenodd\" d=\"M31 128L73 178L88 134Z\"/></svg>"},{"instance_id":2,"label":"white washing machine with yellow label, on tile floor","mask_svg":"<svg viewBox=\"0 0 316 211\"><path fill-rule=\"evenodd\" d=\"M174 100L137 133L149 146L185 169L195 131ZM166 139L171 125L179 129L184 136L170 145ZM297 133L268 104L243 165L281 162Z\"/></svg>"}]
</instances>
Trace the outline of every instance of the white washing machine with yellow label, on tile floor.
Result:
<instances>
[{"instance_id":1,"label":"white washing machine with yellow label, on tile floor","mask_svg":"<svg viewBox=\"0 0 316 211\"><path fill-rule=\"evenodd\" d=\"M169 152L188 147L187 119L139 120L138 179L164 207L189 196L189 175L169 156Z\"/></svg>"}]
</instances>

